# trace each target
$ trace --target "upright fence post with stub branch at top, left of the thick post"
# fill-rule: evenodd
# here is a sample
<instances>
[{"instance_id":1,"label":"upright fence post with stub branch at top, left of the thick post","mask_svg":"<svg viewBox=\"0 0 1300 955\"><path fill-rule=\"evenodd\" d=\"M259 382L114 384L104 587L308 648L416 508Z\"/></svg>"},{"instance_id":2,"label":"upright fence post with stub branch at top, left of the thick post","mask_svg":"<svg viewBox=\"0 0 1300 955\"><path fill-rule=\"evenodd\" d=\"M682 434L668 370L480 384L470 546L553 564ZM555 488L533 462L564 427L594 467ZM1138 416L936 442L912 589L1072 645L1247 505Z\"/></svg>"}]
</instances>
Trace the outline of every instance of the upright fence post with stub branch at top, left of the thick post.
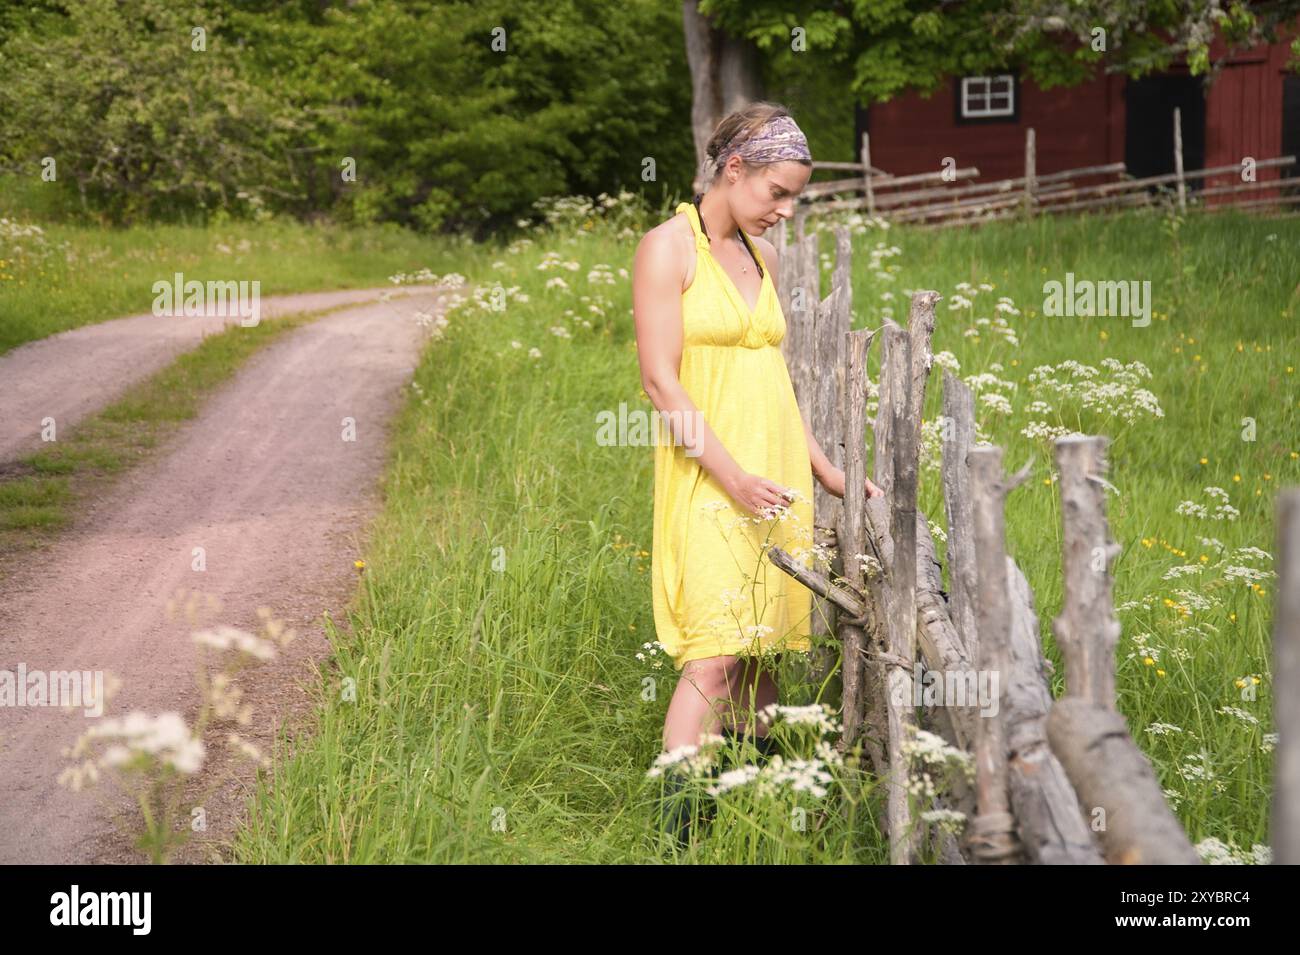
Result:
<instances>
[{"instance_id":1,"label":"upright fence post with stub branch at top, left of the thick post","mask_svg":"<svg viewBox=\"0 0 1300 955\"><path fill-rule=\"evenodd\" d=\"M1026 466L1014 477L1002 474L1002 448L975 447L967 453L976 561L975 624L979 668L989 683L997 680L993 709L979 721L975 739L975 786L979 815L967 837L971 855L985 864L1019 860L1020 847L1011 816L1006 768L1006 729L1002 682L1010 669L1011 612L1006 577L1006 495L1028 477Z\"/></svg>"}]
</instances>

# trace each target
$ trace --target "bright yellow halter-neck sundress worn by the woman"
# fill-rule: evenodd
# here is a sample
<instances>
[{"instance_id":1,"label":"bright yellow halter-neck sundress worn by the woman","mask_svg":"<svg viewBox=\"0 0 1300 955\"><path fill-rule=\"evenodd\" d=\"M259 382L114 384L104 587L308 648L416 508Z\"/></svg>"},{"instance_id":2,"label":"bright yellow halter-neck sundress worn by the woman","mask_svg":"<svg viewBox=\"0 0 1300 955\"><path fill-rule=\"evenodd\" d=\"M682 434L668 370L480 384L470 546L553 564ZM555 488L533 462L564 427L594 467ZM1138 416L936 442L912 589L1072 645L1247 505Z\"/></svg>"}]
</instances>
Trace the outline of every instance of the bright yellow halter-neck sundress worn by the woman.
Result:
<instances>
[{"instance_id":1,"label":"bright yellow halter-neck sundress worn by the woman","mask_svg":"<svg viewBox=\"0 0 1300 955\"><path fill-rule=\"evenodd\" d=\"M807 651L812 594L772 567L768 546L811 565L812 465L781 355L785 316L762 255L757 307L712 257L693 203L696 275L681 295L679 379L736 463L798 492L785 513L754 518L664 425L654 448L651 578L659 643L676 669L722 655Z\"/></svg>"}]
</instances>

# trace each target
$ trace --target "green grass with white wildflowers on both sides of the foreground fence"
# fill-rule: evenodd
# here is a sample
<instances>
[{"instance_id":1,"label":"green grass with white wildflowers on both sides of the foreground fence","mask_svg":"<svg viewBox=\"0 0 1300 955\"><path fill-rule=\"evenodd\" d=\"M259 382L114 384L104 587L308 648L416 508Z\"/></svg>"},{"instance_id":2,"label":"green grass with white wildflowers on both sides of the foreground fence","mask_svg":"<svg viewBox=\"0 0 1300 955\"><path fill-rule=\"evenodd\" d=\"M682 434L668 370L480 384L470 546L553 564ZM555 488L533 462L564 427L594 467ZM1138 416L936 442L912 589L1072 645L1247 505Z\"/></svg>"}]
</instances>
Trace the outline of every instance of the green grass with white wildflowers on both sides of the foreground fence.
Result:
<instances>
[{"instance_id":1,"label":"green grass with white wildflowers on both sides of the foreground fence","mask_svg":"<svg viewBox=\"0 0 1300 955\"><path fill-rule=\"evenodd\" d=\"M650 409L624 272L638 231L588 225L458 265L480 294L416 372L318 729L259 794L237 859L659 858L646 770L673 673L637 659L654 641L651 448L595 438L599 412ZM1008 544L1058 678L1057 495L1048 439L1026 431L1113 438L1119 707L1192 839L1221 841L1208 858L1254 860L1268 842L1273 499L1300 483L1297 248L1295 220L1235 214L855 236L855 325L888 307L905 321L904 290L940 290L940 360L976 387L1008 468L1032 456ZM1150 324L1045 317L1044 282L1067 272L1149 281ZM941 528L937 472L920 504ZM784 703L835 704L797 660L781 682ZM792 732L812 756L819 729ZM831 763L815 773L826 795L725 794L692 858L885 861L879 791Z\"/></svg>"}]
</instances>

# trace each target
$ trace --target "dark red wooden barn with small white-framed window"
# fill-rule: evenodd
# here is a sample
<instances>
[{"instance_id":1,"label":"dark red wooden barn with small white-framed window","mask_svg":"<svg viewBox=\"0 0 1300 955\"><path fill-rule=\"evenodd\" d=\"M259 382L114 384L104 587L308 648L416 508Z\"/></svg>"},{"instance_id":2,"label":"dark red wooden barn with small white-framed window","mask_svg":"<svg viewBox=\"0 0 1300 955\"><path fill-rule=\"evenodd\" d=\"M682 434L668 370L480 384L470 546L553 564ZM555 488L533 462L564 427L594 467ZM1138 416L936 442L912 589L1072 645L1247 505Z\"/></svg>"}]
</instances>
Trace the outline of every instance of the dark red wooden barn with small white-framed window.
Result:
<instances>
[{"instance_id":1,"label":"dark red wooden barn with small white-framed window","mask_svg":"<svg viewBox=\"0 0 1300 955\"><path fill-rule=\"evenodd\" d=\"M1024 130L1034 127L1037 173L1127 164L1134 177L1174 172L1174 108L1182 109L1183 168L1300 155L1300 75L1286 69L1288 42L1234 53L1208 92L1187 66L1128 79L1098 74L1040 90L1008 71L952 77L926 97L907 92L859 113L871 165L894 175L937 172L952 157L982 181L1024 175ZM1212 48L1219 62L1222 45ZM861 138L861 136L859 136ZM1271 179L1277 170L1261 169ZM1283 175L1300 175L1291 166ZM1199 187L1200 183L1191 183Z\"/></svg>"}]
</instances>

